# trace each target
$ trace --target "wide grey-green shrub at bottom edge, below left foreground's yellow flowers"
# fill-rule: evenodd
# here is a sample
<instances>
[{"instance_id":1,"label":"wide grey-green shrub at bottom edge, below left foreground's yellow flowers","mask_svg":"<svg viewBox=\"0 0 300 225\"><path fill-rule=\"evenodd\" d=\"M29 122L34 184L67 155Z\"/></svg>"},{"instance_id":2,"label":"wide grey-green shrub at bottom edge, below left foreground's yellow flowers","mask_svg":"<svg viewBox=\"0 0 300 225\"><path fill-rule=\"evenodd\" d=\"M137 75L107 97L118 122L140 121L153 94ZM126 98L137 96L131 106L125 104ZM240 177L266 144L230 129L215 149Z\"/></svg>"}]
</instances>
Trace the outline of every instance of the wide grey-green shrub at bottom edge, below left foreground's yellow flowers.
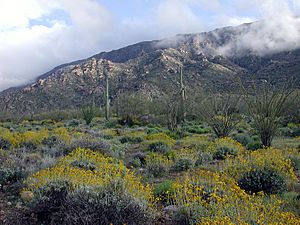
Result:
<instances>
[{"instance_id":1,"label":"wide grey-green shrub at bottom edge, below left foreground's yellow flowers","mask_svg":"<svg viewBox=\"0 0 300 225\"><path fill-rule=\"evenodd\" d=\"M149 224L153 216L145 204L126 193L108 189L78 189L61 207L65 224Z\"/></svg>"}]
</instances>

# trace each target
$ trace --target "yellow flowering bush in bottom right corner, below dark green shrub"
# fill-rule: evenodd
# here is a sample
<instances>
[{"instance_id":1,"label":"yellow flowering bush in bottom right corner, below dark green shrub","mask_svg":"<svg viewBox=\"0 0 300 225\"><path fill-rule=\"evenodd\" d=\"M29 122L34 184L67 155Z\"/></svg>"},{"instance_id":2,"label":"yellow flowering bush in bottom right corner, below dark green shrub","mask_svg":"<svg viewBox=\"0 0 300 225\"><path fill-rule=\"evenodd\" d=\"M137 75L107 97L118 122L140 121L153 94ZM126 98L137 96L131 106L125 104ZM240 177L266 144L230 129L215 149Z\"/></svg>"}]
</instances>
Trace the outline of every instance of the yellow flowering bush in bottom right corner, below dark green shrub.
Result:
<instances>
[{"instance_id":1,"label":"yellow flowering bush in bottom right corner, below dark green shrub","mask_svg":"<svg viewBox=\"0 0 300 225\"><path fill-rule=\"evenodd\" d=\"M188 212L193 224L298 224L300 219L282 211L275 196L248 195L234 179L196 170L174 184L173 204Z\"/></svg>"}]
</instances>

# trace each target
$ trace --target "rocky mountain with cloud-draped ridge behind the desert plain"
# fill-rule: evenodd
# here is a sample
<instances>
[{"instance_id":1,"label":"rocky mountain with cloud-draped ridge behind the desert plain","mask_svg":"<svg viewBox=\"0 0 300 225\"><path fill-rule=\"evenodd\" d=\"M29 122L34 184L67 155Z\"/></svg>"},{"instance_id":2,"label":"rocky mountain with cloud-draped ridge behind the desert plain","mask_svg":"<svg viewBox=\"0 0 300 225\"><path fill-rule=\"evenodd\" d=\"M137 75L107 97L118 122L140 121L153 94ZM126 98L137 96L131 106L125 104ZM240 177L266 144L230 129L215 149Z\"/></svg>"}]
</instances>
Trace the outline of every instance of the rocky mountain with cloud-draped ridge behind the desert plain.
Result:
<instances>
[{"instance_id":1,"label":"rocky mountain with cloud-draped ridge behind the desert plain","mask_svg":"<svg viewBox=\"0 0 300 225\"><path fill-rule=\"evenodd\" d=\"M105 74L110 93L143 92L160 96L178 88L180 67L188 89L230 90L234 80L281 82L300 77L300 49L262 55L238 48L238 37L251 24L211 32L183 34L145 41L90 58L64 64L19 88L0 93L0 111L40 113L103 104ZM232 45L234 43L235 45ZM230 53L224 53L226 46Z\"/></svg>"}]
</instances>

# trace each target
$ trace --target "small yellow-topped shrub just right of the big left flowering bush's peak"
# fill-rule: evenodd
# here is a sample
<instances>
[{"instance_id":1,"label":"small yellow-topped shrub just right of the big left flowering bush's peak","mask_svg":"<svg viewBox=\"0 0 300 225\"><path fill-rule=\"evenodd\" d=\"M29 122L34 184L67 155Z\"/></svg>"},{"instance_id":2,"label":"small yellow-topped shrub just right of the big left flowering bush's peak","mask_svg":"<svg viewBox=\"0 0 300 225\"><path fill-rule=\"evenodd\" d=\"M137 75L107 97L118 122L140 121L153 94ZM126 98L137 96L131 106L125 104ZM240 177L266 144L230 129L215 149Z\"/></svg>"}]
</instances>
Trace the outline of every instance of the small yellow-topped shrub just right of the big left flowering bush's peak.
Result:
<instances>
[{"instance_id":1,"label":"small yellow-topped shrub just right of the big left flowering bush's peak","mask_svg":"<svg viewBox=\"0 0 300 225\"><path fill-rule=\"evenodd\" d=\"M150 154L146 157L146 169L149 175L154 177L162 177L165 175L172 165L172 162L165 156L160 154Z\"/></svg>"}]
</instances>

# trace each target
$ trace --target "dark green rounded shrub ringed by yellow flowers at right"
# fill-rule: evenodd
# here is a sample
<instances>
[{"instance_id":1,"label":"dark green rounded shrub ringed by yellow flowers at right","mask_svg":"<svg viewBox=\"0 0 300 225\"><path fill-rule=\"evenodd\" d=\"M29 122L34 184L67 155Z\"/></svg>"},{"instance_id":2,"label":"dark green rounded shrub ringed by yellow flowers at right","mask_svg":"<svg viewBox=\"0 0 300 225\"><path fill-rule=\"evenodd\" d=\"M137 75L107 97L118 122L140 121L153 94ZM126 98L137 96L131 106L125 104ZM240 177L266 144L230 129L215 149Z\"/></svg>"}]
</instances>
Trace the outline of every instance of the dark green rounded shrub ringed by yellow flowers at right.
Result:
<instances>
[{"instance_id":1,"label":"dark green rounded shrub ringed by yellow flowers at right","mask_svg":"<svg viewBox=\"0 0 300 225\"><path fill-rule=\"evenodd\" d=\"M283 176L270 168L251 170L238 180L239 186L249 193L263 191L266 194L277 194L286 189Z\"/></svg>"}]
</instances>

